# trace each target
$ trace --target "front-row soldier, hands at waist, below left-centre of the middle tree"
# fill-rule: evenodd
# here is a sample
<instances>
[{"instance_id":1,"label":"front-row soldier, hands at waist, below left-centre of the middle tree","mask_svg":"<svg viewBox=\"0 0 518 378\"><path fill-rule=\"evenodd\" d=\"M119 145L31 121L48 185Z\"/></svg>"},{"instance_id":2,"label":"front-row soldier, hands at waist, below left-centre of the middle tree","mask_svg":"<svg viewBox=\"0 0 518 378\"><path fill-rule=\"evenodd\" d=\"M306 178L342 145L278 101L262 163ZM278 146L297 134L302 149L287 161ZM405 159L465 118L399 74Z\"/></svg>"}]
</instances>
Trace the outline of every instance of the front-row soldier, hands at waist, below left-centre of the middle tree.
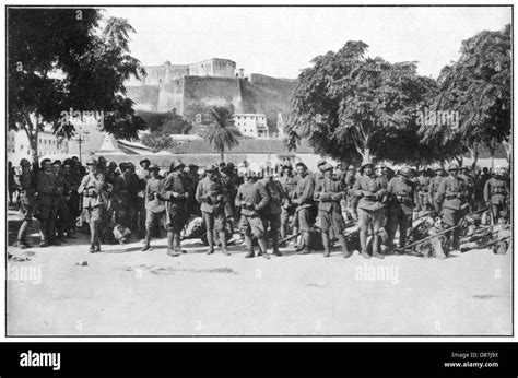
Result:
<instances>
[{"instance_id":1,"label":"front-row soldier, hands at waist, below left-centre of the middle tree","mask_svg":"<svg viewBox=\"0 0 518 378\"><path fill-rule=\"evenodd\" d=\"M348 250L348 244L343 231L345 222L343 221L340 201L345 197L341 177L333 177L333 167L326 164L321 168L323 179L315 187L314 199L318 203L318 217L320 218L320 229L322 233L323 257L331 253L331 239L329 229L333 228L334 235L342 246L342 256L351 257L353 253Z\"/></svg>"}]
</instances>

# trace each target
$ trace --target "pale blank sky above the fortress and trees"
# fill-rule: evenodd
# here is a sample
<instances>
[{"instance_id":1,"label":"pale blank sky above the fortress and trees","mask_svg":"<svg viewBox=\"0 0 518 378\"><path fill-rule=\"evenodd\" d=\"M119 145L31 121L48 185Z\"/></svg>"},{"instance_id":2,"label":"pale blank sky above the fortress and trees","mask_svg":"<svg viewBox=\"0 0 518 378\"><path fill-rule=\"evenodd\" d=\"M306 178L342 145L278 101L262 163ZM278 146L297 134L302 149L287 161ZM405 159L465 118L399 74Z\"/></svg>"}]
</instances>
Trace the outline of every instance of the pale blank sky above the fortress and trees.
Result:
<instances>
[{"instance_id":1,"label":"pale blank sky above the fortress and trees","mask_svg":"<svg viewBox=\"0 0 518 378\"><path fill-rule=\"evenodd\" d=\"M107 8L136 28L132 55L144 66L234 60L246 73L296 78L309 61L348 40L367 55L419 61L437 78L460 43L510 23L510 8Z\"/></svg>"}]
</instances>

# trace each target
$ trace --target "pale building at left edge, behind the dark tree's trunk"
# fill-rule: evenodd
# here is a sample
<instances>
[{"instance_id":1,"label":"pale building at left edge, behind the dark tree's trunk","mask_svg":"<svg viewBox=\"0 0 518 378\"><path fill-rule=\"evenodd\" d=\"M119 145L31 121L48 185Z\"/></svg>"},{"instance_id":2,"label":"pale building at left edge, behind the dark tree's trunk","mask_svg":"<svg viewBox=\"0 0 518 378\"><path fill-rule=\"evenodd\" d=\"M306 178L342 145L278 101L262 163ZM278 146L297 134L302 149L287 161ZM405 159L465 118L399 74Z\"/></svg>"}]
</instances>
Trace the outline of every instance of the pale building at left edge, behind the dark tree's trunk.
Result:
<instances>
[{"instance_id":1,"label":"pale building at left edge, behind the dark tree's trunk","mask_svg":"<svg viewBox=\"0 0 518 378\"><path fill-rule=\"evenodd\" d=\"M49 129L38 132L38 156L40 158L62 158L68 153L69 141L57 138ZM32 160L27 134L23 130L10 130L8 132L8 161L17 165L23 157Z\"/></svg>"}]
</instances>

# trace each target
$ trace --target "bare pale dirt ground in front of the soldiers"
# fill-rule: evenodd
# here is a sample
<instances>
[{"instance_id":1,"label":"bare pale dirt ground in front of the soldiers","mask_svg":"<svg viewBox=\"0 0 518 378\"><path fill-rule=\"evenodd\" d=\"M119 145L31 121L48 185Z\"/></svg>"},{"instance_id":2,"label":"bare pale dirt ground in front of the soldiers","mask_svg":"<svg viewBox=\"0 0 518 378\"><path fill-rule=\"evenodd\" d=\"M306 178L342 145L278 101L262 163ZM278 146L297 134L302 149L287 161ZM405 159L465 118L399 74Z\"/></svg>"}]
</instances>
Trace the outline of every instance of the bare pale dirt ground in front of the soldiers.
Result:
<instances>
[{"instance_id":1,"label":"bare pale dirt ground in front of the soldiers","mask_svg":"<svg viewBox=\"0 0 518 378\"><path fill-rule=\"evenodd\" d=\"M73 243L72 243L73 241ZM510 335L511 253L365 260L166 255L166 240L8 251L9 335ZM32 267L39 271L22 280Z\"/></svg>"}]
</instances>

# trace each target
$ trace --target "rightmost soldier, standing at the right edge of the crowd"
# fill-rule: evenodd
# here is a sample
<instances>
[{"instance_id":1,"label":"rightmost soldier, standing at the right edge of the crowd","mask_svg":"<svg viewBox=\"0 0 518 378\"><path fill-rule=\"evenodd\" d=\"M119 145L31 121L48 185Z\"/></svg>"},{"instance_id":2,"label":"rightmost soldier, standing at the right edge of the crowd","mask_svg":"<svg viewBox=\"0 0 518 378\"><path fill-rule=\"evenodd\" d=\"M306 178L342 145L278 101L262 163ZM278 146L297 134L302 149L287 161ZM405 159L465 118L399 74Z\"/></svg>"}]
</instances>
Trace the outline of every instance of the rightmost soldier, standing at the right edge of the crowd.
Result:
<instances>
[{"instance_id":1,"label":"rightmost soldier, standing at the right edge of the crowd","mask_svg":"<svg viewBox=\"0 0 518 378\"><path fill-rule=\"evenodd\" d=\"M495 177L488 179L484 186L484 201L491 210L493 224L502 218L508 218L509 185L504 178L504 169L495 167Z\"/></svg>"}]
</instances>

